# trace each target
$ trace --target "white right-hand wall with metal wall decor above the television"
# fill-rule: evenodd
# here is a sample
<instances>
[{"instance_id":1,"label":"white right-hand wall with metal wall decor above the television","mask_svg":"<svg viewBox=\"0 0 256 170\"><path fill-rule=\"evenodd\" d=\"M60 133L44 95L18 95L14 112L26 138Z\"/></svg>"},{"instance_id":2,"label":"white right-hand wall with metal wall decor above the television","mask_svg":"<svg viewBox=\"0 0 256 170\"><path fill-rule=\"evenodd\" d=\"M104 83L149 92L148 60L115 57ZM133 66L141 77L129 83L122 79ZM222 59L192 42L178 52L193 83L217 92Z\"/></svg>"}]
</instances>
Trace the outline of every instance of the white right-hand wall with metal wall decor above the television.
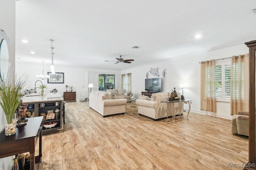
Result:
<instances>
[{"instance_id":1,"label":"white right-hand wall with metal wall decor above the television","mask_svg":"<svg viewBox=\"0 0 256 170\"><path fill-rule=\"evenodd\" d=\"M146 72L149 71L151 67L159 67L159 74L160 77L162 77L162 71L166 69L166 78L162 78L162 92L170 92L173 90L174 87L176 87L176 91L182 93L182 89L179 88L179 85L180 83L186 83L188 87L183 90L184 97L185 99L193 100L191 105L191 111L231 119L229 102L218 102L217 113L215 114L200 111L199 62L209 59L221 59L231 57L232 55L245 54L248 52L248 47L242 44L233 47L227 47L224 49L218 49L215 51L205 51L183 57L174 57L165 61L159 61L158 63L151 63L140 67L125 69L122 70L121 73L132 73L132 93L134 93L134 97L137 98L138 95L141 95L142 91L145 91L144 81L146 78ZM154 77L155 76L149 74L148 78ZM188 108L188 105L184 105L184 108Z\"/></svg>"}]
</instances>

